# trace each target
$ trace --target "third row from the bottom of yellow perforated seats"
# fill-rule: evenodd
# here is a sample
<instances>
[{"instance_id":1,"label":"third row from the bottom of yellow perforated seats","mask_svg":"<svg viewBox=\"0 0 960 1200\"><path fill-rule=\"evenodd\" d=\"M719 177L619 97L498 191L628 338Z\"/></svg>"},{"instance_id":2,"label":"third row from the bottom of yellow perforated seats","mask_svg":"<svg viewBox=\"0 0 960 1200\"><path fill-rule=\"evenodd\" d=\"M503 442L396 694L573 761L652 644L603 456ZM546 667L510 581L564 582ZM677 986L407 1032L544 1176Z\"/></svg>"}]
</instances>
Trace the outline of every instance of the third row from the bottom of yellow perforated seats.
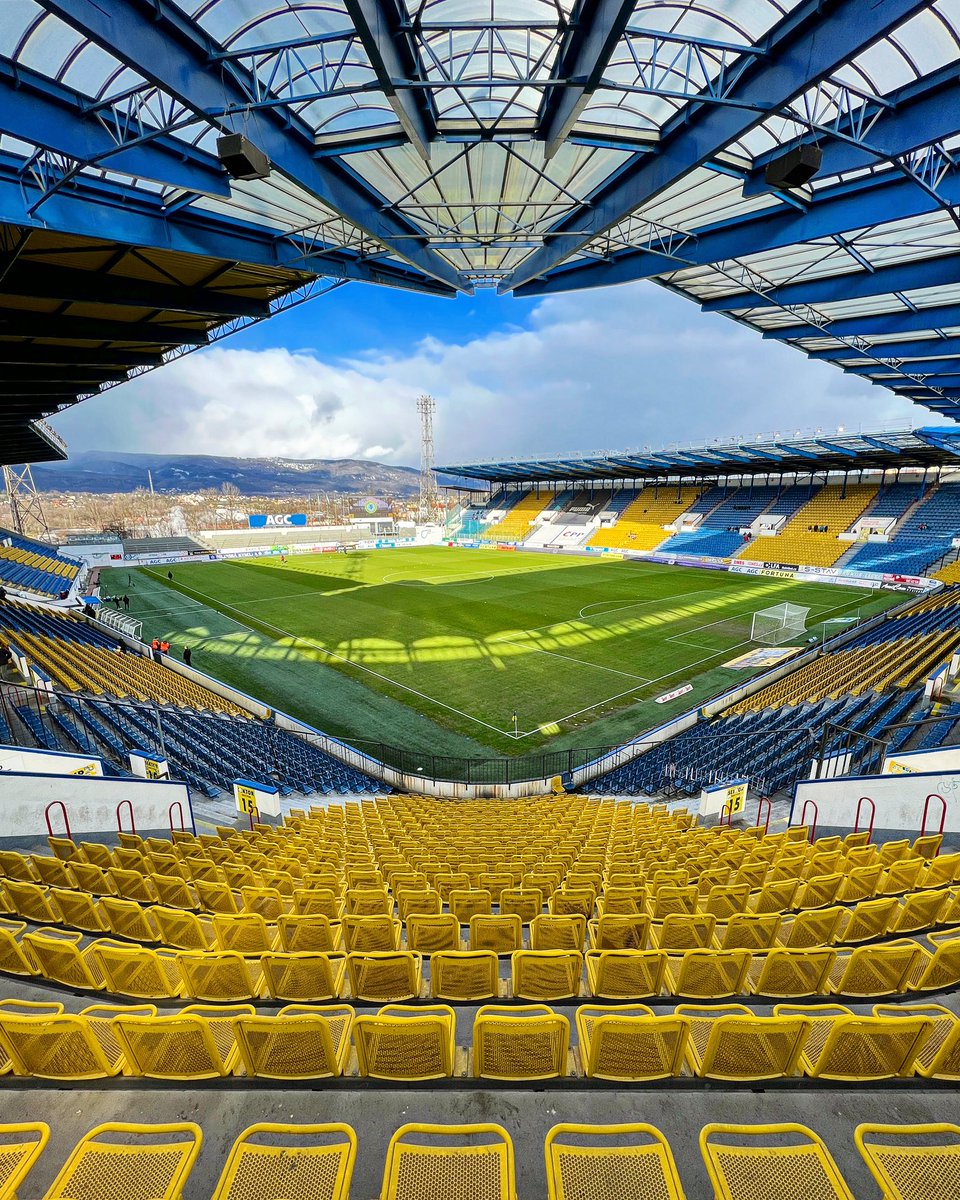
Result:
<instances>
[{"instance_id":1,"label":"third row from the bottom of yellow perforated seats","mask_svg":"<svg viewBox=\"0 0 960 1200\"><path fill-rule=\"evenodd\" d=\"M899 938L852 950L833 947L767 952L515 950L509 979L496 950L216 950L150 949L55 929L22 932L0 926L0 971L83 991L139 1000L317 1001L370 1003L427 998L458 1002L512 996L572 1001L580 996L648 1000L677 996L724 1000L844 996L878 998L946 991L960 984L960 937L948 931L926 949ZM586 976L584 976L586 972ZM346 988L349 986L349 994ZM509 988L509 990L508 990Z\"/></svg>"}]
</instances>

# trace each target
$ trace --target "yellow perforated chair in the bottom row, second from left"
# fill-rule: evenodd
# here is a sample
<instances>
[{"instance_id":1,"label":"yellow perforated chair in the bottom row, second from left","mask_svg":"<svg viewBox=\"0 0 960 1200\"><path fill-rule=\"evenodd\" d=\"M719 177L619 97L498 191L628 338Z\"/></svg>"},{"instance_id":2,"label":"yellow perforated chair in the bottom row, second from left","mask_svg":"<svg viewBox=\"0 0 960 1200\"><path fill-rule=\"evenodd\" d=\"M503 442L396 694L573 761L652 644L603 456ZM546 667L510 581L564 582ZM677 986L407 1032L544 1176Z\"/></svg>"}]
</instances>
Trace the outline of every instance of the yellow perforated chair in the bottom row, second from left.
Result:
<instances>
[{"instance_id":1,"label":"yellow perforated chair in the bottom row, second from left","mask_svg":"<svg viewBox=\"0 0 960 1200\"><path fill-rule=\"evenodd\" d=\"M76 1146L43 1200L180 1200L200 1150L199 1126L97 1126Z\"/></svg>"}]
</instances>

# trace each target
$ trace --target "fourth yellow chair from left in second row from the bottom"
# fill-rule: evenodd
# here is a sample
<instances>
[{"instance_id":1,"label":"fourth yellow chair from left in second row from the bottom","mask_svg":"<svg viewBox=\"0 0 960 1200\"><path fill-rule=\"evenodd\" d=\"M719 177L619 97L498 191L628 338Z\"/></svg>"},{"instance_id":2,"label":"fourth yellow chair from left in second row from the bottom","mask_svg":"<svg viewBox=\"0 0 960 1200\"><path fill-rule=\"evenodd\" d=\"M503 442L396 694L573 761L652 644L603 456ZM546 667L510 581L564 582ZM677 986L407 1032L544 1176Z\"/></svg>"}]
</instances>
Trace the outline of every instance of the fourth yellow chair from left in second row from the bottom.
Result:
<instances>
[{"instance_id":1,"label":"fourth yellow chair from left in second row from the bottom","mask_svg":"<svg viewBox=\"0 0 960 1200\"><path fill-rule=\"evenodd\" d=\"M353 1040L361 1075L372 1079L449 1079L456 1060L456 1015L445 1004L386 1004L358 1016Z\"/></svg>"}]
</instances>

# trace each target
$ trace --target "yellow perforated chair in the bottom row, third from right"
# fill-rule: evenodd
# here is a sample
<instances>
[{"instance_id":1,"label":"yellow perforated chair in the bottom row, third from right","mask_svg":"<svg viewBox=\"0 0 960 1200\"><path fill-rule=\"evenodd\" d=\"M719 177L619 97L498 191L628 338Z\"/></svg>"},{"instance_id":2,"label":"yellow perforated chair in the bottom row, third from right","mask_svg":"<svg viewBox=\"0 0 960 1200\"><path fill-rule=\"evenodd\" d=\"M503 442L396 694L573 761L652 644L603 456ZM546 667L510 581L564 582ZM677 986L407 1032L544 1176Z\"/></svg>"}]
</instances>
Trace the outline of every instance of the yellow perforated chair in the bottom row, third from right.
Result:
<instances>
[{"instance_id":1,"label":"yellow perforated chair in the bottom row, third from right","mask_svg":"<svg viewBox=\"0 0 960 1200\"><path fill-rule=\"evenodd\" d=\"M544 1154L547 1200L684 1200L667 1140L649 1124L558 1124Z\"/></svg>"}]
</instances>

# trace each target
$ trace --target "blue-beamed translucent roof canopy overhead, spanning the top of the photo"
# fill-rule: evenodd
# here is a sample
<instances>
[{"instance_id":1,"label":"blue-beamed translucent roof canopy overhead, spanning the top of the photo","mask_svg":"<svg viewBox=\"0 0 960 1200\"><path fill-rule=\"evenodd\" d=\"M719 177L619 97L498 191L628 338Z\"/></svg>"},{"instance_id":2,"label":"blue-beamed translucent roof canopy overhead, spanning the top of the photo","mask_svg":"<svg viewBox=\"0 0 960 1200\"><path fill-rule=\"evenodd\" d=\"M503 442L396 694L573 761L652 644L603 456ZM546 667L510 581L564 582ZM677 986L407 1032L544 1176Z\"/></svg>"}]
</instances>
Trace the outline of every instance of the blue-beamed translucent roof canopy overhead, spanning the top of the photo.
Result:
<instances>
[{"instance_id":1,"label":"blue-beamed translucent roof canopy overhead, spanning the top of the photo","mask_svg":"<svg viewBox=\"0 0 960 1200\"><path fill-rule=\"evenodd\" d=\"M2 0L0 406L343 280L650 278L953 415L958 31L960 0ZM802 142L817 175L769 187Z\"/></svg>"}]
</instances>

